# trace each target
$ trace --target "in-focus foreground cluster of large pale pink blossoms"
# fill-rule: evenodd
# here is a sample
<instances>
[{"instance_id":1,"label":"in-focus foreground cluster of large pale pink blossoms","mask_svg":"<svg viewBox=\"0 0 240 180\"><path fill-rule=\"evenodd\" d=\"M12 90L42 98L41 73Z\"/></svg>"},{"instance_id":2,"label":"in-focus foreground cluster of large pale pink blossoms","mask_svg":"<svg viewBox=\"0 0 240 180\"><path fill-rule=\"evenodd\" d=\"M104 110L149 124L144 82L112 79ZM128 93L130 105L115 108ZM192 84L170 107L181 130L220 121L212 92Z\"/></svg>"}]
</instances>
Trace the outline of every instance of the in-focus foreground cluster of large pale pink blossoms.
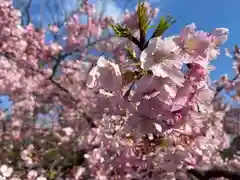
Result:
<instances>
[{"instance_id":1,"label":"in-focus foreground cluster of large pale pink blossoms","mask_svg":"<svg viewBox=\"0 0 240 180\"><path fill-rule=\"evenodd\" d=\"M203 106L211 103L214 92L207 82L212 68L209 62L216 58L227 36L226 28L205 33L195 31L194 24L188 25L180 36L151 39L137 65L116 64L100 57L87 85L99 89L118 112L128 111L131 119L139 123L149 120L158 131L166 130L184 121L189 111L196 112L197 106L206 109ZM129 66L134 67L126 70Z\"/></svg>"}]
</instances>

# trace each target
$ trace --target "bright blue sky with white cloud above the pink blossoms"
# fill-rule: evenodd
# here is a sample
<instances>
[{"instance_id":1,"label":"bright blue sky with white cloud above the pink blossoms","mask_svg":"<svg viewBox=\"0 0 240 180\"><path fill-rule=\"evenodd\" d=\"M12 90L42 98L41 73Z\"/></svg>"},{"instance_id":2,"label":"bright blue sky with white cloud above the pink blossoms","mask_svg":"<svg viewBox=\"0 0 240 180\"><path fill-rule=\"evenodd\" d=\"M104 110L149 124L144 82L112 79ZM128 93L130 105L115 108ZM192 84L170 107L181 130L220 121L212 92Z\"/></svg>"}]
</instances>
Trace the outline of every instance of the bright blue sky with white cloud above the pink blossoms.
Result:
<instances>
[{"instance_id":1,"label":"bright blue sky with white cloud above the pink blossoms","mask_svg":"<svg viewBox=\"0 0 240 180\"><path fill-rule=\"evenodd\" d=\"M24 4L28 0L14 0L15 2ZM54 1L60 2L62 8L66 12L70 12L76 8L78 0L32 0L31 16L35 22L40 19L40 12L44 12L42 19L44 26L50 22L50 13L47 11L44 4L46 2L53 3ZM112 16L114 19L121 19L123 8L127 8L131 11L134 10L137 0L89 0L90 3L96 3L97 11L101 11L103 7L106 9L106 15ZM116 3L117 2L117 3ZM153 7L160 9L160 15L166 15L170 13L172 16L177 17L178 20L166 33L166 35L174 35L180 32L184 25L189 23L196 23L197 27L211 31L216 27L227 27L230 30L229 40L224 44L224 47L232 48L234 44L240 41L238 35L240 33L239 26L239 0L230 1L218 1L218 0L149 0ZM42 6L40 6L40 3ZM104 5L103 5L104 4ZM53 11L53 10L51 10ZM159 18L158 16L158 18ZM222 55L219 56L213 64L217 67L212 72L212 79L217 79L221 74L229 74L232 77L234 74L232 70L232 61L230 58L224 56L224 50L222 48ZM8 106L4 98L4 106Z\"/></svg>"}]
</instances>

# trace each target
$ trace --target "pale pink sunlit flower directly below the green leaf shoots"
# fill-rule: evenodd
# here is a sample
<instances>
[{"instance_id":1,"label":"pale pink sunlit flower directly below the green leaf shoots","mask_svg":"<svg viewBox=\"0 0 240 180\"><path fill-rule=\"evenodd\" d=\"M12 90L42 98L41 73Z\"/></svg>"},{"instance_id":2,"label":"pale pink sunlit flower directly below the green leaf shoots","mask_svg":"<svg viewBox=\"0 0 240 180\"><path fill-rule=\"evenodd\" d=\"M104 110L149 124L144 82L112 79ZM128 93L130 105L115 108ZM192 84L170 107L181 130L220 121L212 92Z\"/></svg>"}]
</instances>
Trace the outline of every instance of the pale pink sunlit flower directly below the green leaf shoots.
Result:
<instances>
[{"instance_id":1,"label":"pale pink sunlit flower directly below the green leaf shoots","mask_svg":"<svg viewBox=\"0 0 240 180\"><path fill-rule=\"evenodd\" d=\"M155 76L168 77L181 85L184 81L184 75L180 71L181 59L174 53L176 48L172 37L151 39L148 47L141 53L141 68L146 71L151 70Z\"/></svg>"}]
</instances>

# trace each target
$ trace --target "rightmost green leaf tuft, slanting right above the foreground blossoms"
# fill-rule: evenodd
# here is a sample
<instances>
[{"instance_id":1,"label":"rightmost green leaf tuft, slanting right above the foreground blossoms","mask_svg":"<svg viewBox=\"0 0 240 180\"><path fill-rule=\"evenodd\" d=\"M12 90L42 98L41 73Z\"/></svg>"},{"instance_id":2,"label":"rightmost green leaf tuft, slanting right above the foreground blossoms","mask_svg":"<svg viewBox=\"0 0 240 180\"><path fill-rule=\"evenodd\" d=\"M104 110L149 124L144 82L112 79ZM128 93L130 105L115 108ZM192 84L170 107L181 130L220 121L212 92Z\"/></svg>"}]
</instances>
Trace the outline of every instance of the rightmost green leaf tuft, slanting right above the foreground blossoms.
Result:
<instances>
[{"instance_id":1,"label":"rightmost green leaf tuft, slanting right above the foreground blossoms","mask_svg":"<svg viewBox=\"0 0 240 180\"><path fill-rule=\"evenodd\" d=\"M162 36L163 33L169 27L171 27L175 22L176 22L176 19L174 19L170 15L167 15L166 18L164 16L161 16L159 24L158 24L156 30L154 31L152 38Z\"/></svg>"}]
</instances>

